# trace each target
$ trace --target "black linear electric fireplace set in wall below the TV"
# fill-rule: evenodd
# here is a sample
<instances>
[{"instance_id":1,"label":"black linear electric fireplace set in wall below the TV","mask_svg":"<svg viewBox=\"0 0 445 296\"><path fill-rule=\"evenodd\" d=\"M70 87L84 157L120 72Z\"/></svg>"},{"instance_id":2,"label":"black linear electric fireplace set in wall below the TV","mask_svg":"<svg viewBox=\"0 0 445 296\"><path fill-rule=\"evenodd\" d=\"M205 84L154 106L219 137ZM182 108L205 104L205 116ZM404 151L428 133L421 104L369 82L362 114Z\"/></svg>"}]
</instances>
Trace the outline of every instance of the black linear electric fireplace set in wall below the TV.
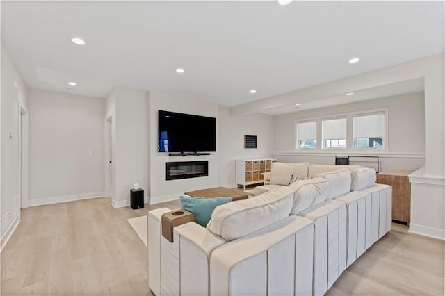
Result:
<instances>
[{"instance_id":1,"label":"black linear electric fireplace set in wall below the TV","mask_svg":"<svg viewBox=\"0 0 445 296\"><path fill-rule=\"evenodd\" d=\"M166 163L165 179L197 178L209 176L209 161L180 161Z\"/></svg>"}]
</instances>

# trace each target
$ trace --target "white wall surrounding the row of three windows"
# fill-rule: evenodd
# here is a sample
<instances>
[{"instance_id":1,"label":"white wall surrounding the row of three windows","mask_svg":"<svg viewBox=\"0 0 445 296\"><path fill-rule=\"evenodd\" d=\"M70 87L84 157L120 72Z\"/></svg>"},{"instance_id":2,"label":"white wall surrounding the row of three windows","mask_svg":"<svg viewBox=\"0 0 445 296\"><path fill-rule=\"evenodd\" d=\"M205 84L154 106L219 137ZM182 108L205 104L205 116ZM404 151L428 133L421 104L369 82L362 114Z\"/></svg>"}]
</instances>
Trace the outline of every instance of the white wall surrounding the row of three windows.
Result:
<instances>
[{"instance_id":1,"label":"white wall surrounding the row of three windows","mask_svg":"<svg viewBox=\"0 0 445 296\"><path fill-rule=\"evenodd\" d=\"M309 161L333 165L335 155L365 155L380 156L380 171L392 168L417 170L425 162L425 110L423 92L401 94L394 97L384 97L351 104L330 106L313 110L300 111L286 115L275 116L275 143L273 155L279 161ZM387 138L389 153L379 153L377 150L337 150L337 151L295 151L295 120L311 117L336 115L375 108L388 109Z\"/></svg>"}]
</instances>

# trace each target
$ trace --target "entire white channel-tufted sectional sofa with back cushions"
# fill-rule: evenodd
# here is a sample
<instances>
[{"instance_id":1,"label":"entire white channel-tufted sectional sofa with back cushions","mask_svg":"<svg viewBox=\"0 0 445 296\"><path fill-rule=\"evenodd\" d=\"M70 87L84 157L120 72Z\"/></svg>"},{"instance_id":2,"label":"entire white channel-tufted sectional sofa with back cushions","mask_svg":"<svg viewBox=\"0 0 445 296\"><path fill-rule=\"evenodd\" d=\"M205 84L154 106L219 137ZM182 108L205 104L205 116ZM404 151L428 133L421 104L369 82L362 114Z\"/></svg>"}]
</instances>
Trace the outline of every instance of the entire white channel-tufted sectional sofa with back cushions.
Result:
<instances>
[{"instance_id":1,"label":"entire white channel-tufted sectional sofa with back cushions","mask_svg":"<svg viewBox=\"0 0 445 296\"><path fill-rule=\"evenodd\" d=\"M339 167L316 165L312 179L218 206L207 227L175 227L173 242L161 235L171 210L150 211L153 293L323 295L391 228L391 186L375 184L372 169Z\"/></svg>"}]
</instances>

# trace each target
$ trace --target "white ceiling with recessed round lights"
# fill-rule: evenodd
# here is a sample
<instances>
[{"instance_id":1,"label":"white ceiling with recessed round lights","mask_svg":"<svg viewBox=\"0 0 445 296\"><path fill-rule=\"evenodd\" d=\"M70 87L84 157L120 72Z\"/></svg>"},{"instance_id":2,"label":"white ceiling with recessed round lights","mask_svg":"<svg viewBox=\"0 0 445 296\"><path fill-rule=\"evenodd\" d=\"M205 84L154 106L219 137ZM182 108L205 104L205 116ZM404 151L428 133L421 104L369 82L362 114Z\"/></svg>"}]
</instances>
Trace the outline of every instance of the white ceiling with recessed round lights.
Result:
<instances>
[{"instance_id":1,"label":"white ceiling with recessed round lights","mask_svg":"<svg viewBox=\"0 0 445 296\"><path fill-rule=\"evenodd\" d=\"M1 1L1 41L31 88L236 106L443 52L444 2Z\"/></svg>"}]
</instances>

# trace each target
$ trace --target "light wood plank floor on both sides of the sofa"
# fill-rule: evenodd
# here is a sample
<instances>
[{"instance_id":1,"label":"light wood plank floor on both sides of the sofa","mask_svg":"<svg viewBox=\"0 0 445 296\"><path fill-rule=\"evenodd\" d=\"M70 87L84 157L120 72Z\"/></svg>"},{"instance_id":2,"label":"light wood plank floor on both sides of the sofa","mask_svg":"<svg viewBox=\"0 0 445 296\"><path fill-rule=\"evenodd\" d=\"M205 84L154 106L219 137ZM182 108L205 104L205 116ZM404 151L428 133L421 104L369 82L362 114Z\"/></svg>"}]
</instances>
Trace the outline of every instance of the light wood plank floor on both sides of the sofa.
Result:
<instances>
[{"instance_id":1,"label":"light wood plank floor on both sides of the sofa","mask_svg":"<svg viewBox=\"0 0 445 296\"><path fill-rule=\"evenodd\" d=\"M114 209L98 198L22 211L1 252L1 295L151 295L147 249L127 222L179 201ZM327 295L444 295L444 242L393 230Z\"/></svg>"}]
</instances>

